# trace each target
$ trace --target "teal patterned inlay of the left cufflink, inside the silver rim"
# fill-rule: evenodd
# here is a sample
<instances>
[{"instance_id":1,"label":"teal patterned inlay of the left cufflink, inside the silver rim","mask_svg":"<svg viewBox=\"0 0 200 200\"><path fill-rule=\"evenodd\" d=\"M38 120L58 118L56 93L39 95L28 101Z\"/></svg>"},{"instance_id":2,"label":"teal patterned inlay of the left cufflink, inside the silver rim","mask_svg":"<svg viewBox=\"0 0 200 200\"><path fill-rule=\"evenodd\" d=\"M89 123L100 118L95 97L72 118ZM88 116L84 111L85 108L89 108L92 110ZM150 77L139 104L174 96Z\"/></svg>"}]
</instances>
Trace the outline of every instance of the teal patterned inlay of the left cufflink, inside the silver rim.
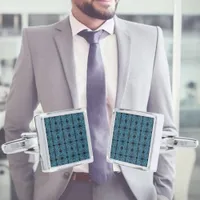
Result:
<instances>
[{"instance_id":1,"label":"teal patterned inlay of the left cufflink, inside the silver rim","mask_svg":"<svg viewBox=\"0 0 200 200\"><path fill-rule=\"evenodd\" d=\"M51 167L90 158L83 113L44 119Z\"/></svg>"}]
</instances>

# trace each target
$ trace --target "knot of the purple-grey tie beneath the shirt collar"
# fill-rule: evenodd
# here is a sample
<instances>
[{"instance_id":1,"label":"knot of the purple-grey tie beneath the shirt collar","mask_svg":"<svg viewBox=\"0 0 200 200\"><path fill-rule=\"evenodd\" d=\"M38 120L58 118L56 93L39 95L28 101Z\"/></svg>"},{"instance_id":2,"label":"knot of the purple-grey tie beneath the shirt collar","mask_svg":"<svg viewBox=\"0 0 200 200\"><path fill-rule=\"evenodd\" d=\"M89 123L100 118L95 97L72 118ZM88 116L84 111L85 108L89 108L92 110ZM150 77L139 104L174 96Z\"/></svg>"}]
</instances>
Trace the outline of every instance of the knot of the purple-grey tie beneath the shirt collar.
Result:
<instances>
[{"instance_id":1,"label":"knot of the purple-grey tie beneath the shirt collar","mask_svg":"<svg viewBox=\"0 0 200 200\"><path fill-rule=\"evenodd\" d=\"M102 33L103 33L103 30L94 31L94 32L83 30L79 32L78 35L83 37L89 44L97 44L99 43Z\"/></svg>"}]
</instances>

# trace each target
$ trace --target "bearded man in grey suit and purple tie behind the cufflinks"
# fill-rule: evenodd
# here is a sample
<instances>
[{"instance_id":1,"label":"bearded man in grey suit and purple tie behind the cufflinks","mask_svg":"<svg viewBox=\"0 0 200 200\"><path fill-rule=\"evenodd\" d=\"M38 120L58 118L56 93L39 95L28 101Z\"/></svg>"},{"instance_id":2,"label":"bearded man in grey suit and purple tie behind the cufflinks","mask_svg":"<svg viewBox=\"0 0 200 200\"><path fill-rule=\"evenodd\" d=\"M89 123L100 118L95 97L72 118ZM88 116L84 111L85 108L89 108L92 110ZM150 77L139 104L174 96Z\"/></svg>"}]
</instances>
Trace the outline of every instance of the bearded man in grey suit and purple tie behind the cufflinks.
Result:
<instances>
[{"instance_id":1,"label":"bearded man in grey suit and purple tie behind the cufflinks","mask_svg":"<svg viewBox=\"0 0 200 200\"><path fill-rule=\"evenodd\" d=\"M72 13L23 30L7 101L6 141L27 132L33 111L87 107L94 163L33 172L24 153L9 155L20 200L171 200L173 152L160 154L156 173L106 163L112 109L162 113L163 135L177 135L162 30L115 16L117 0L72 0ZM86 92L87 91L87 92Z\"/></svg>"}]
</instances>

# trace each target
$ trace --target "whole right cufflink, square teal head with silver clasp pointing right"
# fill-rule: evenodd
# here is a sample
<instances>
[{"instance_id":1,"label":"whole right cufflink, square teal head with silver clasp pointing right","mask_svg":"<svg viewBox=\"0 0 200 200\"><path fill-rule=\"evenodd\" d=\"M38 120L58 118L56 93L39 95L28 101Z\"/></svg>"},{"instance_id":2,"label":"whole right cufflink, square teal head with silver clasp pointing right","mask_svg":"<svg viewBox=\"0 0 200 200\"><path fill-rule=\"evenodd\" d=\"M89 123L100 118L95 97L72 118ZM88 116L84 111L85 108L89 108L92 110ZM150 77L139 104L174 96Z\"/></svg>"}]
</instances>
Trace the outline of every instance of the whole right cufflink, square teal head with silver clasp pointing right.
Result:
<instances>
[{"instance_id":1,"label":"whole right cufflink, square teal head with silver clasp pointing right","mask_svg":"<svg viewBox=\"0 0 200 200\"><path fill-rule=\"evenodd\" d=\"M107 161L147 171L157 171L161 151L196 148L192 138L163 137L164 116L114 109Z\"/></svg>"}]
</instances>

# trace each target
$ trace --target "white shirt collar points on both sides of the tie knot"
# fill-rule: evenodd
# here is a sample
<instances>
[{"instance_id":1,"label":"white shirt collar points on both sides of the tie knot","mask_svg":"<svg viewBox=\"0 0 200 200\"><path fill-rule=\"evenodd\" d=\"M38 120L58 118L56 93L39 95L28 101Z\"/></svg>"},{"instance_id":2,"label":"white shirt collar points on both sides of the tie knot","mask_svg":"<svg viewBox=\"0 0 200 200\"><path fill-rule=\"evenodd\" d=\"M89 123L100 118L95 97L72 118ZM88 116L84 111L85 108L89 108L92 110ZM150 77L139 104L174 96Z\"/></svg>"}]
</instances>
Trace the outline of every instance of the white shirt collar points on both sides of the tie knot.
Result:
<instances>
[{"instance_id":1,"label":"white shirt collar points on both sides of the tie knot","mask_svg":"<svg viewBox=\"0 0 200 200\"><path fill-rule=\"evenodd\" d=\"M79 22L71 13L69 15L69 21L70 21L70 26L72 29L72 35L75 36L77 35L79 32L87 29L90 30L87 26L85 26L84 24L82 24L81 22ZM113 34L114 33L114 19L109 19L107 21L105 21L105 23L103 23L97 30L104 30L109 34ZM91 30L90 30L91 31Z\"/></svg>"}]
</instances>

